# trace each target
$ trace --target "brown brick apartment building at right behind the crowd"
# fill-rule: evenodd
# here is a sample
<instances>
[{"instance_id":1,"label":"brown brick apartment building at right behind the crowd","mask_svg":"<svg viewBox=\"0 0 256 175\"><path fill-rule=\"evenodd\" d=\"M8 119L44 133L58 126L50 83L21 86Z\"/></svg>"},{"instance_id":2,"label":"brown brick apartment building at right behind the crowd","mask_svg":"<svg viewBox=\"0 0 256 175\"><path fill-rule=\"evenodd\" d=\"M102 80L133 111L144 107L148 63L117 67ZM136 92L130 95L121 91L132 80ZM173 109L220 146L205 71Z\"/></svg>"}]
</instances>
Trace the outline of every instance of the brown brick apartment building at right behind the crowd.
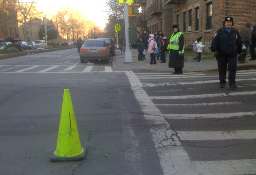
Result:
<instances>
[{"instance_id":1,"label":"brown brick apartment building at right behind the crowd","mask_svg":"<svg viewBox=\"0 0 256 175\"><path fill-rule=\"evenodd\" d=\"M138 0L138 3L145 9L143 14L150 32L162 30L167 39L173 32L173 24L178 24L187 42L190 39L193 43L202 36L209 38L207 45L222 28L226 16L233 17L238 31L246 22L256 25L256 0Z\"/></svg>"}]
</instances>

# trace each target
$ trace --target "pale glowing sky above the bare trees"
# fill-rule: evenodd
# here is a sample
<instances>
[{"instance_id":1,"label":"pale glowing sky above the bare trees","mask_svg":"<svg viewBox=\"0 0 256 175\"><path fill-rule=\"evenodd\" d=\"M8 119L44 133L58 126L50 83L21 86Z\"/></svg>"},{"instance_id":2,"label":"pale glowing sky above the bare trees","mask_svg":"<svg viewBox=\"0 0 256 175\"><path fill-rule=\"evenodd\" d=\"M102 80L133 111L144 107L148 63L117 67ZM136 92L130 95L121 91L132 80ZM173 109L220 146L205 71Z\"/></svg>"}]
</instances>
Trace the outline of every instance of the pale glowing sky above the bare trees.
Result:
<instances>
[{"instance_id":1,"label":"pale glowing sky above the bare trees","mask_svg":"<svg viewBox=\"0 0 256 175\"><path fill-rule=\"evenodd\" d=\"M107 17L107 0L35 0L38 6L43 9L51 9L51 13L67 6L77 9L86 19L93 20L97 26L104 28Z\"/></svg>"}]
</instances>

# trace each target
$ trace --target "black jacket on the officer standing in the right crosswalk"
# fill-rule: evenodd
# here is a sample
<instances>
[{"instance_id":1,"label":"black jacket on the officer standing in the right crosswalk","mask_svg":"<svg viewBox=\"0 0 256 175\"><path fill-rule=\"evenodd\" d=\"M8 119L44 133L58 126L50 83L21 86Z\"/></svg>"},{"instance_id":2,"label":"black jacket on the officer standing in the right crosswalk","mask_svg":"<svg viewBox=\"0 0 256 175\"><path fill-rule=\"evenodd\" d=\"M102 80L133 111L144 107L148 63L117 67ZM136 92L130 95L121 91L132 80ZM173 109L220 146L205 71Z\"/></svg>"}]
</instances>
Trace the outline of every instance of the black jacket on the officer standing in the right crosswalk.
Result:
<instances>
[{"instance_id":1,"label":"black jacket on the officer standing in the right crosswalk","mask_svg":"<svg viewBox=\"0 0 256 175\"><path fill-rule=\"evenodd\" d=\"M218 55L236 55L242 53L243 40L235 28L231 28L230 33L225 27L218 30L212 39L211 51L217 52Z\"/></svg>"}]
</instances>

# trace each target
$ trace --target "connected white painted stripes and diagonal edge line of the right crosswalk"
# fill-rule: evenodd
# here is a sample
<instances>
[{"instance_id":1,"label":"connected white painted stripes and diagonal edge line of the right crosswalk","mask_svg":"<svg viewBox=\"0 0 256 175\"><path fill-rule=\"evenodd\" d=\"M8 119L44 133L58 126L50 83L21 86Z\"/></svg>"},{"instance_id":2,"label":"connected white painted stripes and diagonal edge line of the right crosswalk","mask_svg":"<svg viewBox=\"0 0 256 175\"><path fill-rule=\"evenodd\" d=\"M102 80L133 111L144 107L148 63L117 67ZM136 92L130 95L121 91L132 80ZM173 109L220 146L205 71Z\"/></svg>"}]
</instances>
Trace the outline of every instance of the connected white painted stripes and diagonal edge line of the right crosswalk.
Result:
<instances>
[{"instance_id":1,"label":"connected white painted stripes and diagonal edge line of the right crosswalk","mask_svg":"<svg viewBox=\"0 0 256 175\"><path fill-rule=\"evenodd\" d=\"M237 71L237 77L239 76L251 76L256 71ZM238 96L254 96L256 91L239 91L239 92L226 92L215 94L195 94L195 95L180 95L180 96L153 96L150 88L156 88L157 86L175 86L175 85L187 85L187 84L209 84L218 83L219 80L206 80L206 81L182 81L182 82L158 82L158 83L145 83L147 79L177 79L177 78L195 78L195 77L218 77L207 76L204 73L188 73L183 75L168 75L163 73L133 73L132 71L126 72L130 81L132 90L141 109L145 113L144 118L149 125L152 139L155 143L155 148L160 158L160 164L163 169L164 175L249 175L256 174L256 159L241 159L241 160L216 160L216 161L191 161L188 153L182 147L182 143L179 141L210 141L218 140L230 141L230 140L252 140L256 139L256 130L232 130L232 131L175 131L170 128L167 120L197 120L197 119L226 119L226 118L242 118L246 116L256 116L256 111L241 111L234 113L204 113L204 114L163 114L160 108L166 107L208 107L208 106L230 106L241 105L241 101L232 98L234 101L229 102L215 102L215 103L195 103L195 104L180 104L175 100L183 99L227 99L228 97ZM141 83L141 81L143 83ZM252 84L246 84L246 86L255 86L256 78L236 78L236 81L252 81ZM146 90L144 90L146 88ZM148 96L147 92L150 92L151 96ZM154 91L155 92L155 91ZM159 91L155 92L159 93ZM171 94L175 94L171 93ZM229 98L230 99L230 98ZM158 100L158 101L154 101ZM165 101L163 101L165 100ZM171 101L171 104L166 100ZM156 104L155 104L156 103ZM168 110L171 111L171 110ZM157 129L156 129L157 128ZM176 133L176 134L175 134ZM179 140L175 137L177 136Z\"/></svg>"}]
</instances>

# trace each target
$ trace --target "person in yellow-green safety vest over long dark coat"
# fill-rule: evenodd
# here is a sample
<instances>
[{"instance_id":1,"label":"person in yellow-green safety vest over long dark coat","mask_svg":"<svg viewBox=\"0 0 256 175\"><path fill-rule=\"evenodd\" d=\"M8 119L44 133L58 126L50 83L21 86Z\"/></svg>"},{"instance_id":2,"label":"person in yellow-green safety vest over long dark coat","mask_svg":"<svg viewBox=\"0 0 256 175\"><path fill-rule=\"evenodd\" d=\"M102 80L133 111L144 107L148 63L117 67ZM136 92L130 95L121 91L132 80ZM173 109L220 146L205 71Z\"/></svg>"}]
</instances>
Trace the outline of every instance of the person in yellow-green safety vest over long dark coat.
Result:
<instances>
[{"instance_id":1,"label":"person in yellow-green safety vest over long dark coat","mask_svg":"<svg viewBox=\"0 0 256 175\"><path fill-rule=\"evenodd\" d=\"M174 68L174 74L182 74L184 67L184 33L180 32L178 25L173 25L173 34L167 47L169 52L169 68Z\"/></svg>"}]
</instances>

